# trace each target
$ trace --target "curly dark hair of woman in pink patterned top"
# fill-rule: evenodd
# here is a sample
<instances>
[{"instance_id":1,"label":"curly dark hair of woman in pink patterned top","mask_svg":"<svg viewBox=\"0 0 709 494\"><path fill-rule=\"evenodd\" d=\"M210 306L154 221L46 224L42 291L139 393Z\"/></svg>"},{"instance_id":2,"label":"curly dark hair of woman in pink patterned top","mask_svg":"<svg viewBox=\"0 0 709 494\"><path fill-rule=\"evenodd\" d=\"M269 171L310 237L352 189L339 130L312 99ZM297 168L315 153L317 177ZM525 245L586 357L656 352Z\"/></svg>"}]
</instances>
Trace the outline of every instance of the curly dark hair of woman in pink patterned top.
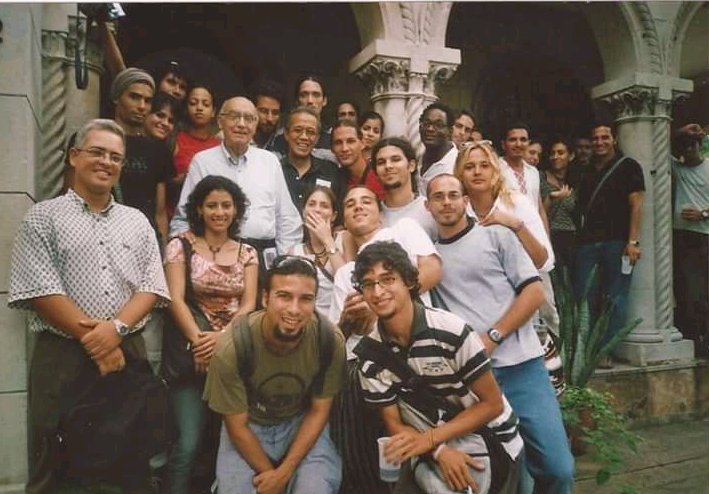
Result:
<instances>
[{"instance_id":1,"label":"curly dark hair of woman in pink patterned top","mask_svg":"<svg viewBox=\"0 0 709 494\"><path fill-rule=\"evenodd\" d=\"M244 218L246 209L249 207L249 201L246 195L241 190L241 187L226 177L219 175L207 175L195 186L194 190L187 199L187 222L190 225L190 230L195 235L204 235L204 218L199 214L198 208L204 205L207 196L215 191L223 190L227 192L232 201L234 201L234 219L229 225L228 235L232 239L239 236L239 227L241 220Z\"/></svg>"}]
</instances>

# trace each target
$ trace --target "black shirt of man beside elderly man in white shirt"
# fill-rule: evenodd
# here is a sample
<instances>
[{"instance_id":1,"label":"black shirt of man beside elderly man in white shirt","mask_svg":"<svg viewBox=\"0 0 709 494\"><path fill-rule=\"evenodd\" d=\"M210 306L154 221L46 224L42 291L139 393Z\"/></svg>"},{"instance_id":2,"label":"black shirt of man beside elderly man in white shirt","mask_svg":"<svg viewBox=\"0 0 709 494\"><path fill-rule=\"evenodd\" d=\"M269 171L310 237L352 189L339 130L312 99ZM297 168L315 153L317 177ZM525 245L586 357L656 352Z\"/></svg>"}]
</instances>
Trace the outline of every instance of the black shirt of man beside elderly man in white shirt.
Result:
<instances>
[{"instance_id":1,"label":"black shirt of man beside elderly man in white shirt","mask_svg":"<svg viewBox=\"0 0 709 494\"><path fill-rule=\"evenodd\" d=\"M342 202L342 195L344 193L344 186L340 177L339 168L337 168L337 166L332 164L330 161L322 160L314 156L311 156L310 160L310 169L305 172L302 177L299 176L298 171L290 165L287 156L281 160L283 176L286 179L286 184L288 185L288 191L290 192L293 204L295 204L298 212L302 214L303 206L305 205L305 194L315 185L323 185L331 189L335 194L335 199L337 201L335 207L339 210L340 203Z\"/></svg>"}]
</instances>

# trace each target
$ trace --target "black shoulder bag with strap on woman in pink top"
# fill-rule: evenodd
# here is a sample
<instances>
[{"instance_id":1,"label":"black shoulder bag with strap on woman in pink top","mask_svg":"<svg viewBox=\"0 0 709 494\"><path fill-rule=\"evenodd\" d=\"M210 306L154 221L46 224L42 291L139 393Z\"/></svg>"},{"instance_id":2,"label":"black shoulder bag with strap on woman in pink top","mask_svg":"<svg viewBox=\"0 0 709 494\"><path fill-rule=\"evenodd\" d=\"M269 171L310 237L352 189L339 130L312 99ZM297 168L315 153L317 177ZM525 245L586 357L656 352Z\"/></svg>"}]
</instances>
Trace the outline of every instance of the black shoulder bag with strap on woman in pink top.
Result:
<instances>
[{"instance_id":1,"label":"black shoulder bag with strap on woman in pink top","mask_svg":"<svg viewBox=\"0 0 709 494\"><path fill-rule=\"evenodd\" d=\"M199 308L192 288L192 245L187 239L180 237L182 251L185 256L185 303L201 331L212 331L212 325L207 316ZM182 330L169 311L165 313L165 325L162 337L162 364L160 374L168 384L188 383L203 378L197 376L194 370L194 359L190 341L185 338Z\"/></svg>"}]
</instances>

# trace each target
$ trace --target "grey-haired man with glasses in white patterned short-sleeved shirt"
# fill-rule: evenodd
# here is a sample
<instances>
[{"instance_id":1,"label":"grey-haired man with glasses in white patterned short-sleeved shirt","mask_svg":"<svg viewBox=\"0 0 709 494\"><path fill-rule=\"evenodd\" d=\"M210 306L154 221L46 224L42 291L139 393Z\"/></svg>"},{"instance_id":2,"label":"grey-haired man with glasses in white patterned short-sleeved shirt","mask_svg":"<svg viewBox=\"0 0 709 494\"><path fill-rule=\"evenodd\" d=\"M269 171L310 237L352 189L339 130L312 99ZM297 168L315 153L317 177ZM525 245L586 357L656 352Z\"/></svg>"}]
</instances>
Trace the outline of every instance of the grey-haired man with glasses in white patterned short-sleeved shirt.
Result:
<instances>
[{"instance_id":1,"label":"grey-haired man with glasses in white patterned short-sleeved shirt","mask_svg":"<svg viewBox=\"0 0 709 494\"><path fill-rule=\"evenodd\" d=\"M36 335L28 396L31 494L57 492L62 480L62 404L85 394L94 367L105 376L127 360L145 363L140 330L153 306L169 301L150 223L111 196L124 152L115 122L88 122L69 151L71 188L34 205L15 239L8 304L29 310L28 327ZM123 492L151 492L149 458L139 451L118 452L130 459L110 466Z\"/></svg>"}]
</instances>

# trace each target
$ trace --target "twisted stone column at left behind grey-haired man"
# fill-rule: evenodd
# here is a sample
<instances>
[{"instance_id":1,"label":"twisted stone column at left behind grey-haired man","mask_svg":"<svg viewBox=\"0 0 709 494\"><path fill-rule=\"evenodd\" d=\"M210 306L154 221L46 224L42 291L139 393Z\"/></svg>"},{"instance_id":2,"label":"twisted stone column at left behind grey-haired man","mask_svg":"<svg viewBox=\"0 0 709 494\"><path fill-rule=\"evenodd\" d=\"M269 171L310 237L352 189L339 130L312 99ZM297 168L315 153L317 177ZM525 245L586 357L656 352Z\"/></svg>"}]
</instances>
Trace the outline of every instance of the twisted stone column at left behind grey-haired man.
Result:
<instances>
[{"instance_id":1,"label":"twisted stone column at left behind grey-haired man","mask_svg":"<svg viewBox=\"0 0 709 494\"><path fill-rule=\"evenodd\" d=\"M102 72L96 40L85 43L86 18L81 16L77 23L77 17L67 14L62 5L51 17L55 18L48 23L51 29L42 30L42 159L35 174L39 200L55 196L62 186L68 136L98 116ZM88 69L86 89L76 85L76 50Z\"/></svg>"}]
</instances>

